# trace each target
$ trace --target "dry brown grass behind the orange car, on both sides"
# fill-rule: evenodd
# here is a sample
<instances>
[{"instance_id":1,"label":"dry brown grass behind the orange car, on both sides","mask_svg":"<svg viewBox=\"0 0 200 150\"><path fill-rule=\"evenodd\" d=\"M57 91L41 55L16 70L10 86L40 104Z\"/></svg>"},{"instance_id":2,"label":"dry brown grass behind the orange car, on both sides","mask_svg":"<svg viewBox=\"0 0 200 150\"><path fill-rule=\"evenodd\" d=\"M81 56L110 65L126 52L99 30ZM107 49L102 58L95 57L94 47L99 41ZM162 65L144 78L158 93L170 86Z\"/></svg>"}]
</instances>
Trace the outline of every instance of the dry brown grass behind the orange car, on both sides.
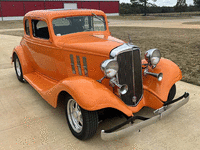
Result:
<instances>
[{"instance_id":1,"label":"dry brown grass behind the orange car, on both sides","mask_svg":"<svg viewBox=\"0 0 200 150\"><path fill-rule=\"evenodd\" d=\"M0 27L2 22L0 22ZM22 28L19 21L8 23L10 28ZM5 24L6 27L8 27ZM5 28L4 28L5 29ZM183 81L200 85L200 43L198 29L166 29L143 27L110 27L112 36L128 41L128 33L132 42L144 52L158 48L162 57L175 62L183 74ZM23 31L7 31L0 34L23 36Z\"/></svg>"}]
</instances>

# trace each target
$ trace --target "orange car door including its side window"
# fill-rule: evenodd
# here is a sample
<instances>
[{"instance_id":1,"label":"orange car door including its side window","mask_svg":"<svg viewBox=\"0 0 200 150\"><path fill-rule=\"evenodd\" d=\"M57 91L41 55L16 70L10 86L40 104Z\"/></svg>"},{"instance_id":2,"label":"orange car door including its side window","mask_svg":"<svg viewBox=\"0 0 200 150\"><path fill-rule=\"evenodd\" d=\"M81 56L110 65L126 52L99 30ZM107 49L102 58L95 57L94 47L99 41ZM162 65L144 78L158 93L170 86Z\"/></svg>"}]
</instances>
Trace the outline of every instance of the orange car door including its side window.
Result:
<instances>
[{"instance_id":1,"label":"orange car door including its side window","mask_svg":"<svg viewBox=\"0 0 200 150\"><path fill-rule=\"evenodd\" d=\"M57 52L50 41L49 29L46 21L32 19L32 38L27 42L30 57L35 71L56 79L57 68L55 53Z\"/></svg>"}]
</instances>

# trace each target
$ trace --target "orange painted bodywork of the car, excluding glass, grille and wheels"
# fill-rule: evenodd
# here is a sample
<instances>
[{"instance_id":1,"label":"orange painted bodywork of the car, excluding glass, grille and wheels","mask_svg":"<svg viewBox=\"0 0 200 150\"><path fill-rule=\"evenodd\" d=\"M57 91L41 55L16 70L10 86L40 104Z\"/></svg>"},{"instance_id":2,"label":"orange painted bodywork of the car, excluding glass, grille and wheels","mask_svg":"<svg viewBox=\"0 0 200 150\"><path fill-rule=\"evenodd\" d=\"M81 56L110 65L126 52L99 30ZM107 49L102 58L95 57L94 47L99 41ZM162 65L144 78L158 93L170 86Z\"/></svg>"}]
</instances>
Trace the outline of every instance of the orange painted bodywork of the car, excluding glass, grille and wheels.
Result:
<instances>
[{"instance_id":1,"label":"orange painted bodywork of the car, excluding glass, grille and wheels","mask_svg":"<svg viewBox=\"0 0 200 150\"><path fill-rule=\"evenodd\" d=\"M105 18L105 31L90 31L56 36L52 20L59 17L91 16L92 13ZM115 108L127 116L132 116L142 107L153 109L162 107L167 100L170 88L181 79L181 71L177 65L167 59L161 59L157 67L149 71L163 73L163 80L143 76L144 93L135 107L127 106L113 93L109 79L102 83L104 73L101 63L110 58L110 51L125 42L110 35L106 15L99 10L67 10L67 11L32 11L25 15L29 20L30 36L24 31L19 46L13 50L21 62L24 79L53 107L57 107L58 95L62 91L69 93L84 109L93 111L103 108ZM39 19L47 23L49 39L33 36L31 20ZM72 72L70 55L73 55L75 74ZM77 56L80 58L81 74L77 68ZM83 58L87 59L88 74L85 74ZM13 59L12 59L13 61ZM145 60L142 60L144 63ZM114 90L115 91L115 90Z\"/></svg>"}]
</instances>

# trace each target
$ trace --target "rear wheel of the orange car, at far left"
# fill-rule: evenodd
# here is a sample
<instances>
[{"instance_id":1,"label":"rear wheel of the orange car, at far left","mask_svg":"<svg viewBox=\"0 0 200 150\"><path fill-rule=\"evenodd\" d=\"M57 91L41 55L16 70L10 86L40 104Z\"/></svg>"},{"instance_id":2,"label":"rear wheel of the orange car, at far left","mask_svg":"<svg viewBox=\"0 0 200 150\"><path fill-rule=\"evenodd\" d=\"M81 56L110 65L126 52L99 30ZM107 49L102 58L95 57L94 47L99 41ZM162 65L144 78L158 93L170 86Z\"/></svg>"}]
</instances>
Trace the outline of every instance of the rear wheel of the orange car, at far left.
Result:
<instances>
[{"instance_id":1,"label":"rear wheel of the orange car, at far left","mask_svg":"<svg viewBox=\"0 0 200 150\"><path fill-rule=\"evenodd\" d=\"M15 66L15 72L16 72L16 75L17 75L17 79L20 82L24 82L21 63L20 63L19 58L16 54L14 55L14 66Z\"/></svg>"}]
</instances>

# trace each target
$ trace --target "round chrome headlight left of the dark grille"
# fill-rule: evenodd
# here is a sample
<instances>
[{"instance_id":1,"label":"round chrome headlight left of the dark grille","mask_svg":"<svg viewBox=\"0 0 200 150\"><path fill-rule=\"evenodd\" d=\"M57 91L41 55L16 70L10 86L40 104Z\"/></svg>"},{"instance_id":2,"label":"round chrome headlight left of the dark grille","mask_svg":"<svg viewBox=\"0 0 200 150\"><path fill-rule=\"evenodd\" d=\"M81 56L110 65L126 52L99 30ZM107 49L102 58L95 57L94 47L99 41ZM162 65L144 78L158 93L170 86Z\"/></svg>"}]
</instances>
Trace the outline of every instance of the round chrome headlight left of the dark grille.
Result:
<instances>
[{"instance_id":1,"label":"round chrome headlight left of the dark grille","mask_svg":"<svg viewBox=\"0 0 200 150\"><path fill-rule=\"evenodd\" d=\"M101 64L101 70L108 78L114 77L117 74L118 69L119 69L118 63L114 59L105 60Z\"/></svg>"}]
</instances>

